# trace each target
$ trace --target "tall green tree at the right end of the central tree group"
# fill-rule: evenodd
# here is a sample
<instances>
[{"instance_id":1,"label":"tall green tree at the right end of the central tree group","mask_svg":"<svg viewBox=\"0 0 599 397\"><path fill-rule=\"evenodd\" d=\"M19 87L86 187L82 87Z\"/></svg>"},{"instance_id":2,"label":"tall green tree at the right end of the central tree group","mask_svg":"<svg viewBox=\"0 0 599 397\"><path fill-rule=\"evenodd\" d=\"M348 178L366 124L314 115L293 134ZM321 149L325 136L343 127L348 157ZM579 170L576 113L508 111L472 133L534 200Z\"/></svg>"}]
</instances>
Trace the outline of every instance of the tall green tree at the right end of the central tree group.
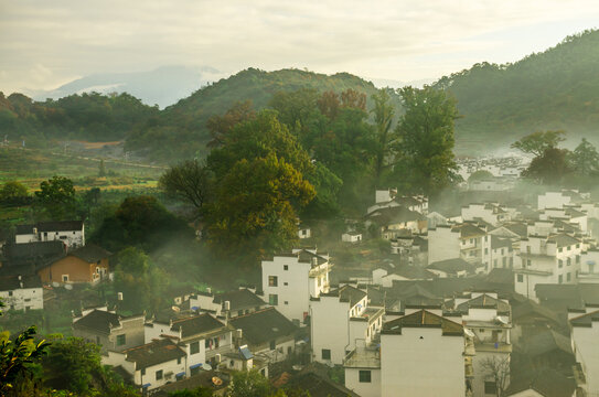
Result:
<instances>
[{"instance_id":1,"label":"tall green tree at the right end of the central tree group","mask_svg":"<svg viewBox=\"0 0 599 397\"><path fill-rule=\"evenodd\" d=\"M405 109L396 128L399 170L408 189L435 195L452 182L457 169L452 151L459 117L456 100L429 86L405 87L399 94Z\"/></svg>"}]
</instances>

